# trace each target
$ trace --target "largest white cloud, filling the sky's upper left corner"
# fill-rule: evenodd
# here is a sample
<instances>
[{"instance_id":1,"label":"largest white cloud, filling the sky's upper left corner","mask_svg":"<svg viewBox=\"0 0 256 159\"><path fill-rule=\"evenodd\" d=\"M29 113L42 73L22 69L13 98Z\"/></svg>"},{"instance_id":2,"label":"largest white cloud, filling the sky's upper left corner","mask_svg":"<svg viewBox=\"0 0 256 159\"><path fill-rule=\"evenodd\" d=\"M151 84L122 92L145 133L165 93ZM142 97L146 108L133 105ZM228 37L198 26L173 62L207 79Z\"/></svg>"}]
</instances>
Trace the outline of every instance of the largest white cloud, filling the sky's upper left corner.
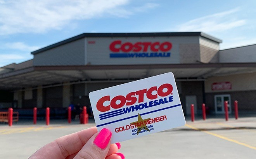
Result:
<instances>
[{"instance_id":1,"label":"largest white cloud, filling the sky's upper left corner","mask_svg":"<svg viewBox=\"0 0 256 159\"><path fill-rule=\"evenodd\" d=\"M131 14L128 0L0 0L0 35L42 33L72 20Z\"/></svg>"}]
</instances>

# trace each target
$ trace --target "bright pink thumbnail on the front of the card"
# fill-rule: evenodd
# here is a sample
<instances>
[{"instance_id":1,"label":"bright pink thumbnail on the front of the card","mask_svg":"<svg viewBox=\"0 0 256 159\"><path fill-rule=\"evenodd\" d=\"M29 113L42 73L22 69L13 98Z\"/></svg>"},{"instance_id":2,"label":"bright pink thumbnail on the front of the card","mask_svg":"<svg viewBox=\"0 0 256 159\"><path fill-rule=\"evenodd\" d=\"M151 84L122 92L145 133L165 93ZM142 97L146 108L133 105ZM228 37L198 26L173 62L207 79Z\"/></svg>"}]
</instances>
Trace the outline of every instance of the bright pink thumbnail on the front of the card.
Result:
<instances>
[{"instance_id":1,"label":"bright pink thumbnail on the front of the card","mask_svg":"<svg viewBox=\"0 0 256 159\"><path fill-rule=\"evenodd\" d=\"M97 135L93 143L97 145L100 149L105 149L109 144L112 133L106 128L102 129Z\"/></svg>"}]
</instances>

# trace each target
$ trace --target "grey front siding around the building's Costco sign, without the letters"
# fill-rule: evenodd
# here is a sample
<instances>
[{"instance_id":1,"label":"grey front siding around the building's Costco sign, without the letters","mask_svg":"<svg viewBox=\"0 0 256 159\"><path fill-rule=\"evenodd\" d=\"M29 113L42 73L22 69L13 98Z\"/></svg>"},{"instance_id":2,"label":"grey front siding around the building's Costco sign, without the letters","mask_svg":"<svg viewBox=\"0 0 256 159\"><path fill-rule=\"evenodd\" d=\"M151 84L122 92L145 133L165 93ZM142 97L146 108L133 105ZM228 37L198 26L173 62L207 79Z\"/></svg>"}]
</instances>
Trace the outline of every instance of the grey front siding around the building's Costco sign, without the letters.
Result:
<instances>
[{"instance_id":1,"label":"grey front siding around the building's Costco sign, without the letters","mask_svg":"<svg viewBox=\"0 0 256 159\"><path fill-rule=\"evenodd\" d=\"M180 44L198 44L199 36L161 36L161 37L113 37L113 38L87 38L86 43L86 57L87 64L92 65L118 65L118 64L179 64L180 54L179 45ZM137 58L110 58L109 45L112 41L121 40L122 43L125 42L156 42L159 41L169 41L172 43L172 48L170 50L170 57L137 57ZM89 43L90 41L95 41L95 43ZM148 49L148 52L151 52ZM118 53L117 53L118 54ZM199 54L199 53L198 53Z\"/></svg>"}]
</instances>

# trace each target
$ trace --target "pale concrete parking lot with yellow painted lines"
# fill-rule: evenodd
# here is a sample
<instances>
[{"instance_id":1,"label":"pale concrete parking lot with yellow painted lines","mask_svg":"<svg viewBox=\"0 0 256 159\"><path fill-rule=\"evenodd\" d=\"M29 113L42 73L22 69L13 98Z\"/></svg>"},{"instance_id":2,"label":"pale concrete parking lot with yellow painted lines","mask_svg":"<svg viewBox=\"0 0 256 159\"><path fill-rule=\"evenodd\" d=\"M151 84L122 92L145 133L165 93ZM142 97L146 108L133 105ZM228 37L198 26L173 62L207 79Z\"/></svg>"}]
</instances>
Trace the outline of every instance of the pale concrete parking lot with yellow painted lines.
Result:
<instances>
[{"instance_id":1,"label":"pale concrete parking lot with yellow painted lines","mask_svg":"<svg viewBox=\"0 0 256 159\"><path fill-rule=\"evenodd\" d=\"M119 150L127 159L144 158L243 158L256 156L256 117L197 119L187 117L185 126L121 142ZM0 158L28 158L48 142L76 131L95 126L66 120L19 121L12 127L0 124Z\"/></svg>"}]
</instances>

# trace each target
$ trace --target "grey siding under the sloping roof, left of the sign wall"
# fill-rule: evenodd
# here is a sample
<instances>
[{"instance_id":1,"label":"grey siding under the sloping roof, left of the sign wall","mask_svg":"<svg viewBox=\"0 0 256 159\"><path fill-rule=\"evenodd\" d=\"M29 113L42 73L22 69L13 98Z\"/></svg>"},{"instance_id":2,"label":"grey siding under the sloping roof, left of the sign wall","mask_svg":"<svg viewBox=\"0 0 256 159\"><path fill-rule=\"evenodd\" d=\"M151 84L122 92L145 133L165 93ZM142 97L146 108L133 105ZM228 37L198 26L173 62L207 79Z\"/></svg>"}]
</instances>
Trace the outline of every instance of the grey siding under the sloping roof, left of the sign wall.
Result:
<instances>
[{"instance_id":1,"label":"grey siding under the sloping roof, left of the sign wall","mask_svg":"<svg viewBox=\"0 0 256 159\"><path fill-rule=\"evenodd\" d=\"M35 66L84 65L85 38L34 55Z\"/></svg>"}]
</instances>

